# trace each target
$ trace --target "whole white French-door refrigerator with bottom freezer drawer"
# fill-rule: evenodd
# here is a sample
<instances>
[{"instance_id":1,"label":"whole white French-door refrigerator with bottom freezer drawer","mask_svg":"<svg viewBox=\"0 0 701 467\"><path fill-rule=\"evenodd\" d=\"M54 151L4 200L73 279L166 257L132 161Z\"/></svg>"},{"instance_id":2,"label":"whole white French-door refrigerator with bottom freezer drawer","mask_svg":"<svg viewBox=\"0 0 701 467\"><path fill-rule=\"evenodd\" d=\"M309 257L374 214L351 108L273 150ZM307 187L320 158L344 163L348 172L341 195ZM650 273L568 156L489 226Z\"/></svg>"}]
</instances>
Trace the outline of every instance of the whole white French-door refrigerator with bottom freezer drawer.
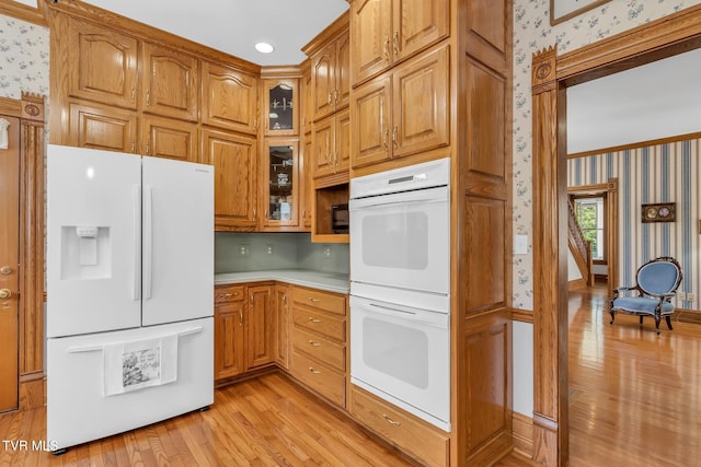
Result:
<instances>
[{"instance_id":1,"label":"whole white French-door refrigerator with bottom freezer drawer","mask_svg":"<svg viewBox=\"0 0 701 467\"><path fill-rule=\"evenodd\" d=\"M214 402L214 167L49 145L55 452Z\"/></svg>"}]
</instances>

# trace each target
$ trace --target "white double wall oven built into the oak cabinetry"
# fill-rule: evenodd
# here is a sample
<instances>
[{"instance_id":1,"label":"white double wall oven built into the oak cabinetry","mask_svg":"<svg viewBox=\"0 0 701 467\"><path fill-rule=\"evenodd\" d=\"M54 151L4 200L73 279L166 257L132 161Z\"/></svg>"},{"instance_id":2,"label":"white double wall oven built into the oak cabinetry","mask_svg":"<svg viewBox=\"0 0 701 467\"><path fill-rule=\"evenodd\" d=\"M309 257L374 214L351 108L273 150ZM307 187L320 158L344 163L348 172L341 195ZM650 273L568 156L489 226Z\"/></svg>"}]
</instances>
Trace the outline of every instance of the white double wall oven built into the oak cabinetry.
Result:
<instances>
[{"instance_id":1,"label":"white double wall oven built into the oak cabinetry","mask_svg":"<svg viewBox=\"0 0 701 467\"><path fill-rule=\"evenodd\" d=\"M450 162L350 180L350 381L450 431Z\"/></svg>"}]
</instances>

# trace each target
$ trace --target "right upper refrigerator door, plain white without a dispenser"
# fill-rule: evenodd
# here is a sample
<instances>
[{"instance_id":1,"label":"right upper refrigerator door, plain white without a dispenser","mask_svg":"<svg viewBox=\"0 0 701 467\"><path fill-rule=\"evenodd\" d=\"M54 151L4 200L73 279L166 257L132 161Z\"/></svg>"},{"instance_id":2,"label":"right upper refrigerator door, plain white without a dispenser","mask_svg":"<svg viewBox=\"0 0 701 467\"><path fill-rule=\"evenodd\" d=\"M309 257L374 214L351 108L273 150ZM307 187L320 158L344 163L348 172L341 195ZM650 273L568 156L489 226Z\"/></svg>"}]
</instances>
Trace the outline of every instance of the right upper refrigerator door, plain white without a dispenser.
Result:
<instances>
[{"instance_id":1,"label":"right upper refrigerator door, plain white without a dispenser","mask_svg":"<svg viewBox=\"0 0 701 467\"><path fill-rule=\"evenodd\" d=\"M143 157L142 324L214 314L214 167Z\"/></svg>"}]
</instances>

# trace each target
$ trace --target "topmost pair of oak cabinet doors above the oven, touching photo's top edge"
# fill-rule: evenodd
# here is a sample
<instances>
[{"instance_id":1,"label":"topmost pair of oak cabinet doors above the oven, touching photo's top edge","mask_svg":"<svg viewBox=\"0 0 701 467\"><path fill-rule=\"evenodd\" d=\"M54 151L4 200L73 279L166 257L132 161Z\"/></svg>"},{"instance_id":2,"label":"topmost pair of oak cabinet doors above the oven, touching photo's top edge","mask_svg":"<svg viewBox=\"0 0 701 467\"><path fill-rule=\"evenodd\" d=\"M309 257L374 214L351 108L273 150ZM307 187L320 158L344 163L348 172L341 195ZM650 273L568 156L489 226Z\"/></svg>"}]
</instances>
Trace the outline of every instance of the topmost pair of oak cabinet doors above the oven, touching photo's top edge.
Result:
<instances>
[{"instance_id":1,"label":"topmost pair of oak cabinet doors above the oven, touching photo's top edge","mask_svg":"<svg viewBox=\"0 0 701 467\"><path fill-rule=\"evenodd\" d=\"M449 0L352 3L352 75L358 84L450 34Z\"/></svg>"}]
</instances>

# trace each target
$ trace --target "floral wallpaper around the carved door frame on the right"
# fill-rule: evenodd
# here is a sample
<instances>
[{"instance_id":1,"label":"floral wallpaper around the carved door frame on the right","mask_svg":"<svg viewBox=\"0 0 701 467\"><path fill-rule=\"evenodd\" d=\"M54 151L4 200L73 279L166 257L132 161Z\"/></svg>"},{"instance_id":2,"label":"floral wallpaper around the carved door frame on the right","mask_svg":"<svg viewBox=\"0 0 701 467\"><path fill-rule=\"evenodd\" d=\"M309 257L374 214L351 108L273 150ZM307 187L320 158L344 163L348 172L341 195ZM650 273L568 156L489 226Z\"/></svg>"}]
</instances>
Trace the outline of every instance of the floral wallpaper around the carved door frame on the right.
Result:
<instances>
[{"instance_id":1,"label":"floral wallpaper around the carved door frame on the right","mask_svg":"<svg viewBox=\"0 0 701 467\"><path fill-rule=\"evenodd\" d=\"M701 3L701 0L611 0L572 20L550 25L550 0L514 0L514 233L532 242L531 59L558 44L565 52ZM516 308L533 310L533 261L514 258Z\"/></svg>"}]
</instances>

